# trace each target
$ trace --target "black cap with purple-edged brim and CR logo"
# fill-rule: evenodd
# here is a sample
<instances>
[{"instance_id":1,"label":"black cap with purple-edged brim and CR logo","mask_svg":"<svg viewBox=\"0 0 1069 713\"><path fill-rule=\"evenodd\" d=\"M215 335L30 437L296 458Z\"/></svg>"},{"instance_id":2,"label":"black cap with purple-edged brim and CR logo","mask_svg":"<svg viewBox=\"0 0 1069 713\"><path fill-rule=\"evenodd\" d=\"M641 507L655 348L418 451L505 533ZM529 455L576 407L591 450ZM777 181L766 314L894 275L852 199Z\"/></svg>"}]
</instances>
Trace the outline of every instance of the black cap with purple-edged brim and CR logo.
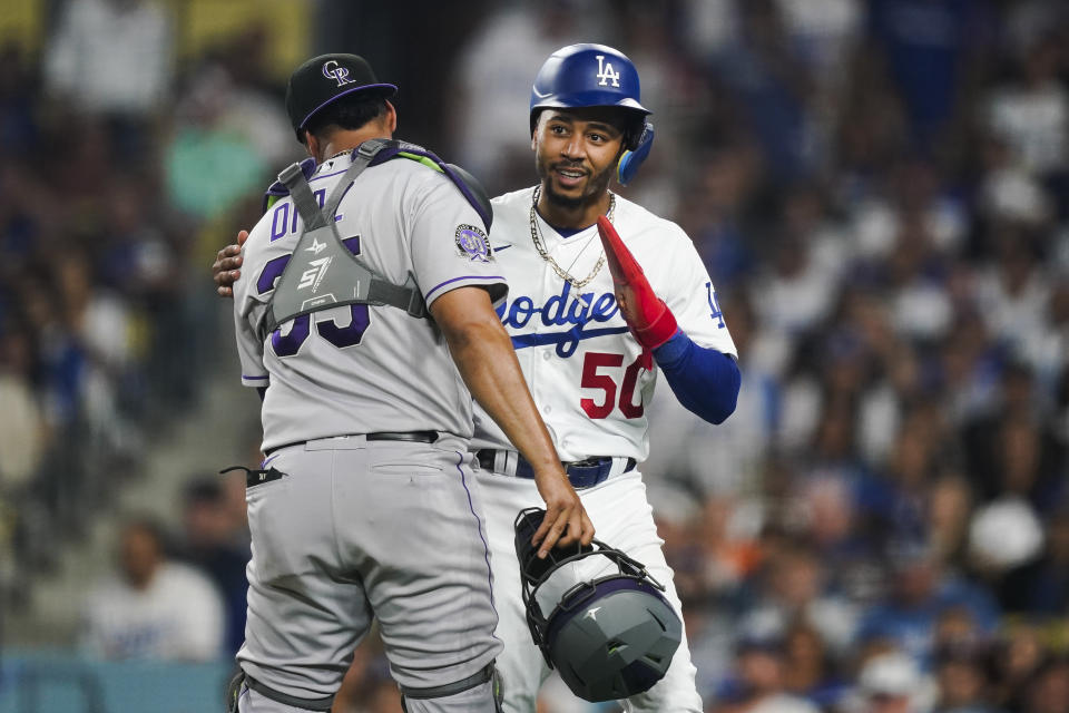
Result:
<instances>
[{"instance_id":1,"label":"black cap with purple-edged brim and CR logo","mask_svg":"<svg viewBox=\"0 0 1069 713\"><path fill-rule=\"evenodd\" d=\"M340 97L374 92L392 97L398 88L380 82L371 65L356 55L320 55L297 67L286 85L286 113L303 143L304 127L312 116Z\"/></svg>"}]
</instances>

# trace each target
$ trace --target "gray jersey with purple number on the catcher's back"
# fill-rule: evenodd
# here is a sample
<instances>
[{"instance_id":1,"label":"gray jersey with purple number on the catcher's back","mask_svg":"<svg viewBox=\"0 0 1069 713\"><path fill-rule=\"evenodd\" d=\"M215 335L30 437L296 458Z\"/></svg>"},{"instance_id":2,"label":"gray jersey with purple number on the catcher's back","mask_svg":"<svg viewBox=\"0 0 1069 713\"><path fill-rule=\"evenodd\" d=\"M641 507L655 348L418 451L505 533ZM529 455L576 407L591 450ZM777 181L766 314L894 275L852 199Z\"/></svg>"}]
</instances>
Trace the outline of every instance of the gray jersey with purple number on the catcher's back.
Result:
<instances>
[{"instance_id":1,"label":"gray jersey with purple number on the catcher's back","mask_svg":"<svg viewBox=\"0 0 1069 713\"><path fill-rule=\"evenodd\" d=\"M310 185L321 204L350 160L345 155L317 167ZM402 284L415 275L428 306L468 285L490 289L496 302L504 297L478 214L428 166L395 158L366 169L342 198L336 221L346 247L383 277ZM269 384L263 448L373 431L470 437L471 395L430 320L396 307L349 305L297 318L257 339L302 225L288 198L268 208L249 234L234 285L242 382Z\"/></svg>"}]
</instances>

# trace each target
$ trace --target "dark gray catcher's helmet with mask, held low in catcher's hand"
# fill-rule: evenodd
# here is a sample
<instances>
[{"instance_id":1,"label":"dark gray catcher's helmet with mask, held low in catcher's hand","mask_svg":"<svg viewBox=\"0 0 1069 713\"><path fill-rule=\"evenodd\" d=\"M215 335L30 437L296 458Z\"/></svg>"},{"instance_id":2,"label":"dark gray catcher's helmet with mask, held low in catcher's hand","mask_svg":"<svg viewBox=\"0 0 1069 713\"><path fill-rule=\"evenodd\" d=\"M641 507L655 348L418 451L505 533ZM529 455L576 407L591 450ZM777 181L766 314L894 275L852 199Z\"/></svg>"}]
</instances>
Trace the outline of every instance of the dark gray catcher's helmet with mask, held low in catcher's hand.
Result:
<instances>
[{"instance_id":1,"label":"dark gray catcher's helmet with mask, held low in catcher's hand","mask_svg":"<svg viewBox=\"0 0 1069 713\"><path fill-rule=\"evenodd\" d=\"M527 623L546 662L586 701L648 691L665 676L683 638L665 587L641 563L597 539L556 547L539 559L531 537L545 516L528 508L514 525ZM600 568L597 558L605 560Z\"/></svg>"}]
</instances>

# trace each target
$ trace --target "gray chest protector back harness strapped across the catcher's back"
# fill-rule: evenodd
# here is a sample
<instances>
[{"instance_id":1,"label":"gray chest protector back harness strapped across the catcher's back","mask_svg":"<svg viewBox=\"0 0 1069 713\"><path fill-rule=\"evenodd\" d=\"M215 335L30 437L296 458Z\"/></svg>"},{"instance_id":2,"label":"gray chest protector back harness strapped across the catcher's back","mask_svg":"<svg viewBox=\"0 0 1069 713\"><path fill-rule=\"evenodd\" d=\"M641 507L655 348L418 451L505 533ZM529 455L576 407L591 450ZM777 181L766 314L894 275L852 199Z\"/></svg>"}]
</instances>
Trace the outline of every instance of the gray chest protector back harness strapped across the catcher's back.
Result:
<instances>
[{"instance_id":1,"label":"gray chest protector back harness strapped across the catcher's back","mask_svg":"<svg viewBox=\"0 0 1069 713\"><path fill-rule=\"evenodd\" d=\"M278 180L288 189L293 205L304 221L304 232L268 301L259 324L262 339L283 322L346 304L389 305L414 318L428 315L426 303L412 273L403 285L395 285L357 262L342 243L334 221L334 212L352 183L383 148L393 143L372 139L361 144L353 163L322 208L301 164L293 164L278 174Z\"/></svg>"}]
</instances>

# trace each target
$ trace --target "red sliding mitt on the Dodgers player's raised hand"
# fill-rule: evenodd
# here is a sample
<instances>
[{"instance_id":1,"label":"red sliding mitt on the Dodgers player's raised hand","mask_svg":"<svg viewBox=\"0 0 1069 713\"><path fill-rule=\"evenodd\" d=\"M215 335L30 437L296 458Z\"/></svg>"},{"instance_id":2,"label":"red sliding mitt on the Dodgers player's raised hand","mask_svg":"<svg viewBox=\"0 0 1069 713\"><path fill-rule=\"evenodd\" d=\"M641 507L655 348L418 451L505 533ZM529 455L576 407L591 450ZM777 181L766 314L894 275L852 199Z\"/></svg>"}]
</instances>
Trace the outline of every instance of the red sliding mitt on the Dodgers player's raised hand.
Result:
<instances>
[{"instance_id":1,"label":"red sliding mitt on the Dodgers player's raised hand","mask_svg":"<svg viewBox=\"0 0 1069 713\"><path fill-rule=\"evenodd\" d=\"M616 228L604 215L598 218L598 234L612 273L616 302L638 343L647 351L657 349L676 333L676 318L665 301L654 293L646 273Z\"/></svg>"}]
</instances>

